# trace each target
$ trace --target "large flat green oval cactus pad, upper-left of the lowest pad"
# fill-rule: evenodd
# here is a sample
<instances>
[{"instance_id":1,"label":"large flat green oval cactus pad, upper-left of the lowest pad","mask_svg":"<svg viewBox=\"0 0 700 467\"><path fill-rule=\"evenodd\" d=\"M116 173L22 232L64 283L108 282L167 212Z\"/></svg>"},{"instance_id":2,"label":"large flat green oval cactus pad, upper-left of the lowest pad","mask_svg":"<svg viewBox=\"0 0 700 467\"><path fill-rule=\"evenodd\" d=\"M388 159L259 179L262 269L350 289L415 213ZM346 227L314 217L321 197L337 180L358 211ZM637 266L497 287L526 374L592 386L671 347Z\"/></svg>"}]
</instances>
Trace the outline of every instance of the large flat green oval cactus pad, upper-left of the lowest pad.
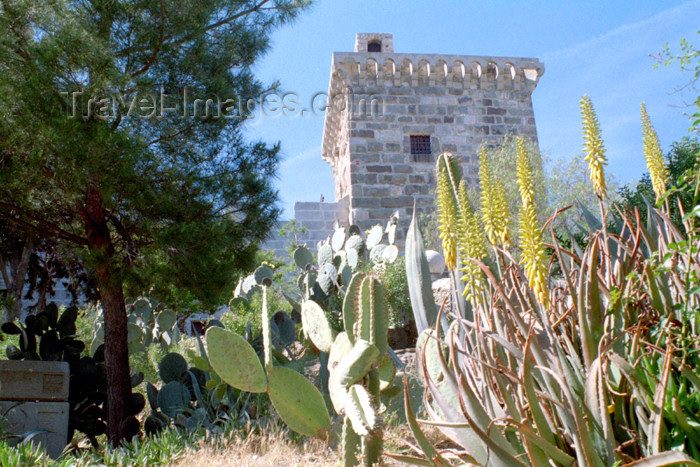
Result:
<instances>
[{"instance_id":1,"label":"large flat green oval cactus pad, upper-left of the lowest pad","mask_svg":"<svg viewBox=\"0 0 700 467\"><path fill-rule=\"evenodd\" d=\"M207 353L226 383L246 392L267 392L267 378L251 345L238 334L214 327L207 331Z\"/></svg>"}]
</instances>

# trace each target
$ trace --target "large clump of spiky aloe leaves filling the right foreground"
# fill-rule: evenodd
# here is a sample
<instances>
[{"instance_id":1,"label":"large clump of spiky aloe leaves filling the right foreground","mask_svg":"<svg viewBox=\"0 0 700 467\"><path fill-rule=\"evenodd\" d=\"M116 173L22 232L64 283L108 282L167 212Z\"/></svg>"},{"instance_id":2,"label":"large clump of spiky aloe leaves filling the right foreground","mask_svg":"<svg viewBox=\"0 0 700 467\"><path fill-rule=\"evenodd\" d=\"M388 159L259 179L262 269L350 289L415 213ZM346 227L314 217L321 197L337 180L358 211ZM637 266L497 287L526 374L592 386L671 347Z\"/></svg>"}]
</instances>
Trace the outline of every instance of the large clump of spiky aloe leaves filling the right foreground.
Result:
<instances>
[{"instance_id":1,"label":"large clump of spiky aloe leaves filling the right foreground","mask_svg":"<svg viewBox=\"0 0 700 467\"><path fill-rule=\"evenodd\" d=\"M600 130L590 101L585 104L602 219L584 212L588 243L579 249L557 240L553 216L546 224L552 258L536 274L525 268L534 270L539 253L519 257L497 235L497 267L459 252L456 263L478 265L486 285L473 302L473 318L452 315L446 332L422 333L417 361L431 424L461 450L448 455L427 443L407 403L425 458L394 456L403 462L700 465L694 215L680 232L663 208L648 205L646 224L635 213L611 210ZM531 206L527 188L521 186L523 209ZM695 205L687 211L700 211L700 196ZM521 235L530 236L537 252L543 229L534 222Z\"/></svg>"}]
</instances>

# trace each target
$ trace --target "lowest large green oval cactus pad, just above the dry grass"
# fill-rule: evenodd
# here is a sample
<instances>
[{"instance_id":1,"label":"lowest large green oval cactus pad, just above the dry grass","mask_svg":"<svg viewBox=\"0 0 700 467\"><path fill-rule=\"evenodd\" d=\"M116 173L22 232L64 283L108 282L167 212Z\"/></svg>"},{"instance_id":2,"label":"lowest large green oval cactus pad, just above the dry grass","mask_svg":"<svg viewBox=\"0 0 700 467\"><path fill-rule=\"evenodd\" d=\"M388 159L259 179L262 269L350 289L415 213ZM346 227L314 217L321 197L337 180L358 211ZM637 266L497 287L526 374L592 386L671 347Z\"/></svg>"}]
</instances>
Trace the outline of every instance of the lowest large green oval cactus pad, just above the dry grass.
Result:
<instances>
[{"instance_id":1,"label":"lowest large green oval cactus pad, just above the dry grass","mask_svg":"<svg viewBox=\"0 0 700 467\"><path fill-rule=\"evenodd\" d=\"M331 418L323 396L313 383L284 367L270 369L268 378L272 405L289 428L325 439L331 428Z\"/></svg>"}]
</instances>

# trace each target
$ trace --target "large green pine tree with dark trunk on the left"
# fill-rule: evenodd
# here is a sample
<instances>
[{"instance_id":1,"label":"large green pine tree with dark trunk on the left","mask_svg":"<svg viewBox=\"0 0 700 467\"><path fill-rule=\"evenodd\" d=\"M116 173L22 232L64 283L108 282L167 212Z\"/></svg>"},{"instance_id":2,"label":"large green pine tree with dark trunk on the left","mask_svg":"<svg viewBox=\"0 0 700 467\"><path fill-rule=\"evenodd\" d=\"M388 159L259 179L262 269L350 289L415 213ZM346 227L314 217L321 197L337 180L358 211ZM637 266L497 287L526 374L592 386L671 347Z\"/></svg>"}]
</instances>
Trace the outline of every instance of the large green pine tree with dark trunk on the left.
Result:
<instances>
[{"instance_id":1,"label":"large green pine tree with dark trunk on the left","mask_svg":"<svg viewBox=\"0 0 700 467\"><path fill-rule=\"evenodd\" d=\"M114 444L133 434L125 284L211 301L278 215L279 147L241 130L267 90L251 67L307 3L0 2L0 217L94 277Z\"/></svg>"}]
</instances>

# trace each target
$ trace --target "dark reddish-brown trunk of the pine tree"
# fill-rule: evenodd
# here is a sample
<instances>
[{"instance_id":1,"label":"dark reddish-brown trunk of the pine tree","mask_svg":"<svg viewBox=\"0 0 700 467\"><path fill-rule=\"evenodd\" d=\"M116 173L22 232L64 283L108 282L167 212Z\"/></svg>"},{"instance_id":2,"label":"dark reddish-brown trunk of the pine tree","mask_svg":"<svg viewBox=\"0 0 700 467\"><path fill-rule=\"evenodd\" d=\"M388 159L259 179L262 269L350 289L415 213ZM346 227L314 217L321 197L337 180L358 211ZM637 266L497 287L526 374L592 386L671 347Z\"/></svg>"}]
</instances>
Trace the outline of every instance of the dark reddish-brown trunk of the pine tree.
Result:
<instances>
[{"instance_id":1,"label":"dark reddish-brown trunk of the pine tree","mask_svg":"<svg viewBox=\"0 0 700 467\"><path fill-rule=\"evenodd\" d=\"M131 400L126 306L102 197L97 189L89 188L86 198L83 220L104 316L107 437L119 446L131 434L125 423Z\"/></svg>"}]
</instances>

